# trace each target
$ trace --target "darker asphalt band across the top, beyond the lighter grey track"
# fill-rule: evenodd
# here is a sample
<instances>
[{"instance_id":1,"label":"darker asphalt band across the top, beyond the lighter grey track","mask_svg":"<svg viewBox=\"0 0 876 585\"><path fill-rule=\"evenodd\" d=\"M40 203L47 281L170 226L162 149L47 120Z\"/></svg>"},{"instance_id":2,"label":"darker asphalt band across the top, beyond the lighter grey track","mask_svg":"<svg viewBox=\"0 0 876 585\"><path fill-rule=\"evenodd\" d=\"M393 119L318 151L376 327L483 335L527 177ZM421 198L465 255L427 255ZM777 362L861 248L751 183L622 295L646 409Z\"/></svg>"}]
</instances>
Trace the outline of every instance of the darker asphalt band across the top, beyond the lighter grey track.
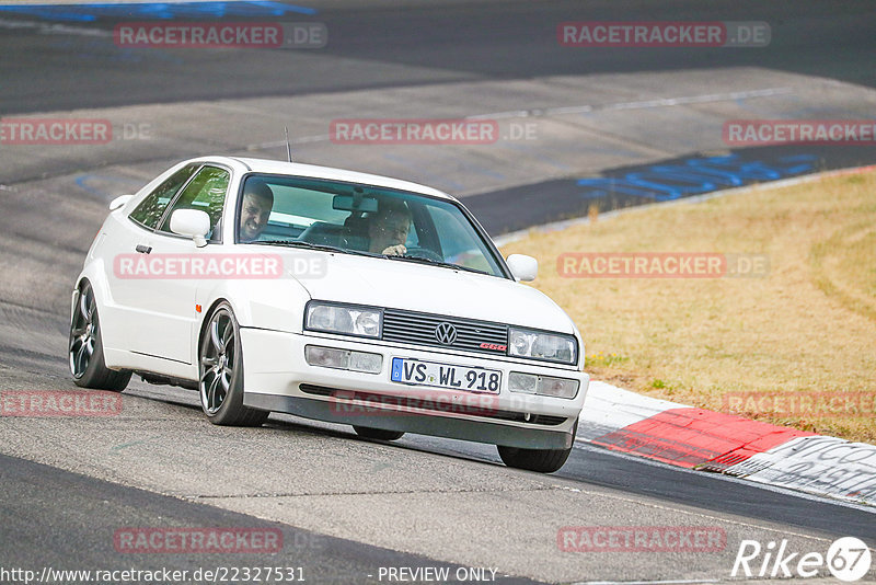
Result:
<instances>
[{"instance_id":1,"label":"darker asphalt band across the top, beyond the lighter grey track","mask_svg":"<svg viewBox=\"0 0 876 585\"><path fill-rule=\"evenodd\" d=\"M389 2L387 2L389 3ZM319 55L223 51L148 59L80 39L4 34L4 114L132 103L349 91L472 78L520 79L570 73L757 66L874 87L873 5L857 2L330 2L316 14L278 20L325 22ZM311 5L311 4L307 4ZM319 7L319 3L312 4ZM10 13L10 18L11 14ZM250 20L257 20L257 15ZM275 18L276 19L276 18ZM127 18L99 21L112 30ZM235 19L240 20L240 19ZM565 21L765 21L768 51L710 48L563 49ZM70 23L68 23L70 24ZM76 24L76 23L72 23ZM196 51L195 51L196 53ZM316 53L316 51L311 51ZM359 62L351 67L350 59ZM397 66L402 66L400 68Z\"/></svg>"}]
</instances>

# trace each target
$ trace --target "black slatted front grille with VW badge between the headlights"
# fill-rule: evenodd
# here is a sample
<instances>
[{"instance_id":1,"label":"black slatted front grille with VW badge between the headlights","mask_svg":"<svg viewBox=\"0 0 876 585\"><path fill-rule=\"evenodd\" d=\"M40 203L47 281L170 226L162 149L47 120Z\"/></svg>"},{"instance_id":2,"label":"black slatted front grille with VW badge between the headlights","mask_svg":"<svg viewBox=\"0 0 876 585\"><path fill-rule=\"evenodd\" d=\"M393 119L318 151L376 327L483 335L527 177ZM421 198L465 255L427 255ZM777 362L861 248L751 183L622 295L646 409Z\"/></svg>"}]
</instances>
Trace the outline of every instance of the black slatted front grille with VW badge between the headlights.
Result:
<instances>
[{"instance_id":1,"label":"black slatted front grille with VW badge between the headlights","mask_svg":"<svg viewBox=\"0 0 876 585\"><path fill-rule=\"evenodd\" d=\"M439 325L443 325L445 329L452 325L456 339L452 342L448 342L447 339L439 340ZM505 355L508 345L508 325L458 317L385 309L383 311L383 340Z\"/></svg>"}]
</instances>

